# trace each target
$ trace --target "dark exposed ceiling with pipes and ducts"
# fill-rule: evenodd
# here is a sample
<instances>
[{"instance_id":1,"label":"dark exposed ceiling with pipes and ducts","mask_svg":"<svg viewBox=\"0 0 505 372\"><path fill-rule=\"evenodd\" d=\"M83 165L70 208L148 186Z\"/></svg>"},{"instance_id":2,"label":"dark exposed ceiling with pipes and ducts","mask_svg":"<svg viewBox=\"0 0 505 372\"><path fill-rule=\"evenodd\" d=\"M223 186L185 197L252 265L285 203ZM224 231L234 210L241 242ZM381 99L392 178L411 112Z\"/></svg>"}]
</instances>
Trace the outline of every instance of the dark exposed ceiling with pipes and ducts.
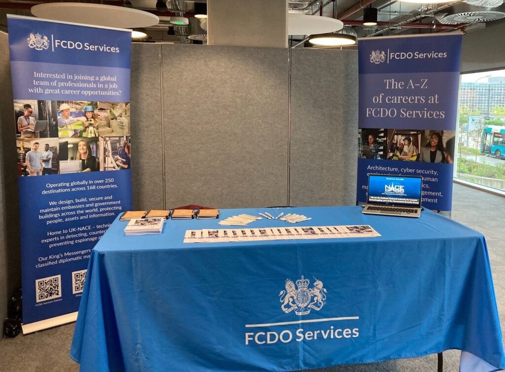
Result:
<instances>
[{"instance_id":1,"label":"dark exposed ceiling with pipes and ducts","mask_svg":"<svg viewBox=\"0 0 505 372\"><path fill-rule=\"evenodd\" d=\"M501 0L465 0L465 2L500 2ZM0 0L0 28L6 29L7 13L31 16L30 8L33 5L41 3L54 3L54 0ZM81 3L92 3L93 0L84 0ZM207 26L201 20L194 18L195 14L205 14L207 12L207 2L204 0L186 1L186 0L168 0L168 12L160 12L156 8L156 0L103 0L99 4L116 5L121 7L130 7L156 14L160 17L160 24L149 27L147 33L151 40L183 42L183 43L201 43L201 41L191 40L189 35L206 34ZM432 33L432 32L450 32L454 30L471 31L485 27L486 14L476 16L475 10L491 10L496 14L503 14L505 17L505 6L494 9L476 8L469 4L455 3L439 5L420 5L402 3L396 0L289 0L289 12L304 13L311 15L323 15L326 17L337 18L348 26L356 29L361 37L390 35L390 34L409 34L409 33ZM363 9L372 5L378 9L378 26L364 27ZM465 17L453 17L457 23L446 24L444 17L451 13L464 12ZM461 10L460 10L461 8ZM474 13L470 13L473 11ZM481 12L482 13L482 12ZM474 18L469 18L472 14ZM457 14L460 15L460 14ZM184 16L189 19L187 26L173 27L169 22L170 16ZM480 18L479 18L480 17ZM448 18L447 18L448 19ZM466 21L466 22L465 22ZM293 37L296 41L302 36ZM194 39L194 37L193 37Z\"/></svg>"}]
</instances>

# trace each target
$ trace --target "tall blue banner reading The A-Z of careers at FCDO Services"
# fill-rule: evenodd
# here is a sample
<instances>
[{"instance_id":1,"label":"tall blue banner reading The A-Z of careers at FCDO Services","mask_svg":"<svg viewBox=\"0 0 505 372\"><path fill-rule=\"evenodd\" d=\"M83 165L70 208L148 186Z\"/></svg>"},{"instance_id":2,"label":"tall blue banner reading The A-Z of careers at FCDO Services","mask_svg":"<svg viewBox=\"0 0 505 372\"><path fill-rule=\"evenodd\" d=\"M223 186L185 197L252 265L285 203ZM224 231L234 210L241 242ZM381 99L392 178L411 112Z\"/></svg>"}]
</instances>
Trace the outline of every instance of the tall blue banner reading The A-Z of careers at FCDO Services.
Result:
<instances>
[{"instance_id":1,"label":"tall blue banner reading The A-Z of careers at FCDO Services","mask_svg":"<svg viewBox=\"0 0 505 372\"><path fill-rule=\"evenodd\" d=\"M369 174L423 177L422 205L449 213L462 34L359 42L358 202Z\"/></svg>"}]
</instances>

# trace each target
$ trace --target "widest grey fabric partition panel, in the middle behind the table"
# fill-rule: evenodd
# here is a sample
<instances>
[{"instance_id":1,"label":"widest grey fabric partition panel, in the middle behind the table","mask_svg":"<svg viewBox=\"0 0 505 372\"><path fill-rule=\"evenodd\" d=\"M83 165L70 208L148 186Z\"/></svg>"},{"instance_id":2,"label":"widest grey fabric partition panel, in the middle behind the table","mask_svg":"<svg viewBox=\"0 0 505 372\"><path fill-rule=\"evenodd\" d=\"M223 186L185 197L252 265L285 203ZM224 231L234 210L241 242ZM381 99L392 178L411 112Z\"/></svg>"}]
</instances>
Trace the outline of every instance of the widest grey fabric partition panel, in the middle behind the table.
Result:
<instances>
[{"instance_id":1,"label":"widest grey fabric partition panel, in the middle behind the table","mask_svg":"<svg viewBox=\"0 0 505 372\"><path fill-rule=\"evenodd\" d=\"M286 205L288 55L163 44L168 208Z\"/></svg>"}]
</instances>

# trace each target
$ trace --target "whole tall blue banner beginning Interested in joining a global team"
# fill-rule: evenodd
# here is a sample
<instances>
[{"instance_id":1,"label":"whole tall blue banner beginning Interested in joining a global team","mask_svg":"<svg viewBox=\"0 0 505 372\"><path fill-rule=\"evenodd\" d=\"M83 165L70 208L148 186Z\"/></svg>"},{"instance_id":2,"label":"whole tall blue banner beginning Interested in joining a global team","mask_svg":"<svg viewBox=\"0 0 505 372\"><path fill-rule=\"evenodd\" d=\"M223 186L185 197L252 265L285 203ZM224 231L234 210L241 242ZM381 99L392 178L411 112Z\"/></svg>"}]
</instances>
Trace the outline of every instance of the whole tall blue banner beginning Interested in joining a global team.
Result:
<instances>
[{"instance_id":1,"label":"whole tall blue banner beginning Interested in joining a global team","mask_svg":"<svg viewBox=\"0 0 505 372\"><path fill-rule=\"evenodd\" d=\"M131 209L131 31L12 15L8 27L30 333L75 320L92 248Z\"/></svg>"}]
</instances>

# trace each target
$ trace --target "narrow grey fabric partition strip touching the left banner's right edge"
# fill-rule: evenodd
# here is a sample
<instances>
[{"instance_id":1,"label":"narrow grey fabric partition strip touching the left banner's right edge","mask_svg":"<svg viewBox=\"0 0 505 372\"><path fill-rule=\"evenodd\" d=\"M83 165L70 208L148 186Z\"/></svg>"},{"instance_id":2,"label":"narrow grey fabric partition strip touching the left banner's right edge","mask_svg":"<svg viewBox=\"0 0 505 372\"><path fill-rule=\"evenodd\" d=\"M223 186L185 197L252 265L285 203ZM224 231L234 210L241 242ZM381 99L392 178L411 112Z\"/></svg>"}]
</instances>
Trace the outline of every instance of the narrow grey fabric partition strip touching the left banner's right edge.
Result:
<instances>
[{"instance_id":1,"label":"narrow grey fabric partition strip touching the left banner's right edge","mask_svg":"<svg viewBox=\"0 0 505 372\"><path fill-rule=\"evenodd\" d=\"M133 206L162 209L161 44L132 44L130 91Z\"/></svg>"}]
</instances>

